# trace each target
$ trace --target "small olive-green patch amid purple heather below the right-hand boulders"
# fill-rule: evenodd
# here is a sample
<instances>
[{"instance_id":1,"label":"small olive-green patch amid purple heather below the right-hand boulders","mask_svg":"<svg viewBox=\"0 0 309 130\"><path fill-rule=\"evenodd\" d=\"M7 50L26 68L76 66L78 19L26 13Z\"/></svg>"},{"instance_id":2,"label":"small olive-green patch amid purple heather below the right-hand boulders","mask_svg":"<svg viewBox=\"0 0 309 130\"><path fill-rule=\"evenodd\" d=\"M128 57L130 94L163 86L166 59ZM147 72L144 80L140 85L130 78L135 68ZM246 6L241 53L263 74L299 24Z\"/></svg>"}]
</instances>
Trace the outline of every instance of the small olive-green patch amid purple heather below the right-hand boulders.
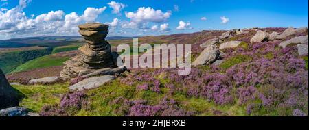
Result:
<instances>
[{"instance_id":1,"label":"small olive-green patch amid purple heather below the right-hand boulders","mask_svg":"<svg viewBox=\"0 0 309 130\"><path fill-rule=\"evenodd\" d=\"M235 66L236 64L240 64L242 62L249 62L250 60L252 60L252 58L248 55L236 55L222 62L222 64L220 64L220 68L227 70L231 66Z\"/></svg>"}]
</instances>

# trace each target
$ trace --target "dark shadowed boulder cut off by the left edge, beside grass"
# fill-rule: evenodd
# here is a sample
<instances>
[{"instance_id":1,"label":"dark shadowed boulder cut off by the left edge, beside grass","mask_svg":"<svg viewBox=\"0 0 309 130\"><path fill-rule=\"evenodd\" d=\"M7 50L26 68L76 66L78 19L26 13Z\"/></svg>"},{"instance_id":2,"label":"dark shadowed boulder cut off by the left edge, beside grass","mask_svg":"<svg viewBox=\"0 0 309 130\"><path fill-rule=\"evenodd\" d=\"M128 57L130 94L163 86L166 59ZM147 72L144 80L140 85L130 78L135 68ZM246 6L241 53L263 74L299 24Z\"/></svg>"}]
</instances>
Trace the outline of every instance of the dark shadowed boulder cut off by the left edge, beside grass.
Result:
<instances>
[{"instance_id":1,"label":"dark shadowed boulder cut off by the left edge, beside grass","mask_svg":"<svg viewBox=\"0 0 309 130\"><path fill-rule=\"evenodd\" d=\"M0 69L0 109L19 105L19 96Z\"/></svg>"}]
</instances>

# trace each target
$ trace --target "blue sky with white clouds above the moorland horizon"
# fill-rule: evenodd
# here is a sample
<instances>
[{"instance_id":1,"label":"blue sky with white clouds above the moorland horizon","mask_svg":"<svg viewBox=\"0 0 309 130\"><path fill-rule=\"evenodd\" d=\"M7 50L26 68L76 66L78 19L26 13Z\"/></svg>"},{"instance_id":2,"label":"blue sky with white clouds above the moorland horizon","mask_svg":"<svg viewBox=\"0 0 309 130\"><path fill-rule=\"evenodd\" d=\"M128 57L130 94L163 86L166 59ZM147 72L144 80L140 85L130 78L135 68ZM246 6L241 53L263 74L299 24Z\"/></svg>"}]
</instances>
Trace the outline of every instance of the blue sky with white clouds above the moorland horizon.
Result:
<instances>
[{"instance_id":1,"label":"blue sky with white clouds above the moorland horizon","mask_svg":"<svg viewBox=\"0 0 309 130\"><path fill-rule=\"evenodd\" d=\"M308 0L0 0L0 40L76 36L93 22L108 24L108 36L308 27Z\"/></svg>"}]
</instances>

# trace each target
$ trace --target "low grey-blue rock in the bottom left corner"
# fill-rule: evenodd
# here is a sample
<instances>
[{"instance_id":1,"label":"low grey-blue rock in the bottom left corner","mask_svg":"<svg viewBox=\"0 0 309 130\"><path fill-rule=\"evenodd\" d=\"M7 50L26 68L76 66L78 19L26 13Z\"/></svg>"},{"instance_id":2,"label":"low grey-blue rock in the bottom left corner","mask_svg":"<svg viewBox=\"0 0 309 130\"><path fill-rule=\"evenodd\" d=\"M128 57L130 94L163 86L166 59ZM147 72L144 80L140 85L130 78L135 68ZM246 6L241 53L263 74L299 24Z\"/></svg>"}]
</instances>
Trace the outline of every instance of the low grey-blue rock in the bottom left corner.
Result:
<instances>
[{"instance_id":1,"label":"low grey-blue rock in the bottom left corner","mask_svg":"<svg viewBox=\"0 0 309 130\"><path fill-rule=\"evenodd\" d=\"M28 116L28 110L23 107L10 107L1 109L0 116Z\"/></svg>"}]
</instances>

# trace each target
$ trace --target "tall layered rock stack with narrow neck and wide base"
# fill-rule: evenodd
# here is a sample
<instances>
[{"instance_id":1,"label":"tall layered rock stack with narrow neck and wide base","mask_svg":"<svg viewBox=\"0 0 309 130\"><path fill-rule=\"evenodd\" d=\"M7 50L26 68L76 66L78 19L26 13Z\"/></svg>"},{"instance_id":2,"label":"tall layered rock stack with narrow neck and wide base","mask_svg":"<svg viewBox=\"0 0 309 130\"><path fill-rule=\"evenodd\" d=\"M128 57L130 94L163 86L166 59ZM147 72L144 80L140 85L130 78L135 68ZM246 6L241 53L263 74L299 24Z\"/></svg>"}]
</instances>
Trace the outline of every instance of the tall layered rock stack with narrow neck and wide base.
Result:
<instances>
[{"instance_id":1,"label":"tall layered rock stack with narrow neck and wide base","mask_svg":"<svg viewBox=\"0 0 309 130\"><path fill-rule=\"evenodd\" d=\"M93 73L102 68L112 69L117 67L115 64L117 57L113 56L118 55L111 53L111 44L105 40L108 34L108 25L86 23L78 27L80 28L79 33L86 40L87 44L78 49L80 51L78 56L72 57L71 60L65 62L65 67L60 73L60 77L71 79Z\"/></svg>"}]
</instances>

